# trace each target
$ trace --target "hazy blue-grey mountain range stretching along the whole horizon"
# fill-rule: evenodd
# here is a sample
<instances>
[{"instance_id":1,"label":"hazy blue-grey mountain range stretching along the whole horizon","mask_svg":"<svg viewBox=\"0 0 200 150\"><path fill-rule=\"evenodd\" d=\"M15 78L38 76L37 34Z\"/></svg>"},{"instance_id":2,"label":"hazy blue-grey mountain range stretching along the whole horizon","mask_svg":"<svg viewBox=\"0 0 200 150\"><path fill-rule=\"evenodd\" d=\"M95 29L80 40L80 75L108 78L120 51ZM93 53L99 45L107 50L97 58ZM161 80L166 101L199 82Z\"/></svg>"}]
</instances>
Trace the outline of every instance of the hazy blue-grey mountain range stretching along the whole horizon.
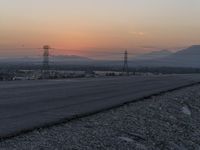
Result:
<instances>
[{"instance_id":1,"label":"hazy blue-grey mountain range stretching along the whole horizon","mask_svg":"<svg viewBox=\"0 0 200 150\"><path fill-rule=\"evenodd\" d=\"M1 58L1 62L41 64L42 57ZM68 65L123 66L123 60L94 60L76 55L50 56L50 63ZM200 68L200 45L193 45L178 52L153 51L129 58L130 67L193 67Z\"/></svg>"}]
</instances>

